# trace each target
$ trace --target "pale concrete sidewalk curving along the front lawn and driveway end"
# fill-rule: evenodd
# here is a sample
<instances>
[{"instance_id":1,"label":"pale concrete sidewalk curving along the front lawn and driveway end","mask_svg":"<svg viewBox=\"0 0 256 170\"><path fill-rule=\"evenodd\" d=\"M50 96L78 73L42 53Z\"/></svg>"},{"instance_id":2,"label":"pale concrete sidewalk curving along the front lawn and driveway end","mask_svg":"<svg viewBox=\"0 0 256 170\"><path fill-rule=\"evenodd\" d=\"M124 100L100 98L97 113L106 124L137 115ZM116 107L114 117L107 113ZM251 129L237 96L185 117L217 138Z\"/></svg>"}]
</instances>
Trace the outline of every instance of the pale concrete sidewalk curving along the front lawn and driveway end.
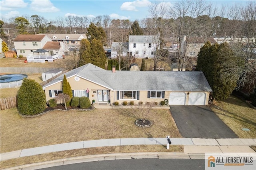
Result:
<instances>
[{"instance_id":1,"label":"pale concrete sidewalk curving along the front lawn and driveway end","mask_svg":"<svg viewBox=\"0 0 256 170\"><path fill-rule=\"evenodd\" d=\"M185 153L205 153L205 152L254 152L250 145L256 146L256 139L244 138L170 138L172 145L184 145ZM116 138L116 139L100 139L85 140L79 142L70 142L62 144L54 144L49 146L40 146L36 148L27 148L6 152L0 154L0 160L8 160L20 158L24 156L32 156L45 154L50 152L59 152L64 150L74 150L82 148L93 148L103 146L124 146L124 145L166 145L166 138Z\"/></svg>"}]
</instances>

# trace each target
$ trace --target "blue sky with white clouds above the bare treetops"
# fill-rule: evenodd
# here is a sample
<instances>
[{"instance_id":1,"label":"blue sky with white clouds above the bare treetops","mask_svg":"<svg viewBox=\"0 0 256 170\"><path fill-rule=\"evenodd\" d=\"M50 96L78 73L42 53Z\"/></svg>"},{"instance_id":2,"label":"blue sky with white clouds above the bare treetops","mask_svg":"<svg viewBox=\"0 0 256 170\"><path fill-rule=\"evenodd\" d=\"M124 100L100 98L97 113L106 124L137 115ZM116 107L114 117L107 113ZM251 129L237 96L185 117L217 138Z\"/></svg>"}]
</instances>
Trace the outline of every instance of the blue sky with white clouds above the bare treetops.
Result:
<instances>
[{"instance_id":1,"label":"blue sky with white clouds above the bare treetops","mask_svg":"<svg viewBox=\"0 0 256 170\"><path fill-rule=\"evenodd\" d=\"M206 0L217 7L234 4L245 5L247 0ZM58 16L96 16L109 15L111 19L141 20L148 16L148 6L152 0L0 0L0 18L38 15L49 21ZM177 1L160 0L166 6Z\"/></svg>"}]
</instances>

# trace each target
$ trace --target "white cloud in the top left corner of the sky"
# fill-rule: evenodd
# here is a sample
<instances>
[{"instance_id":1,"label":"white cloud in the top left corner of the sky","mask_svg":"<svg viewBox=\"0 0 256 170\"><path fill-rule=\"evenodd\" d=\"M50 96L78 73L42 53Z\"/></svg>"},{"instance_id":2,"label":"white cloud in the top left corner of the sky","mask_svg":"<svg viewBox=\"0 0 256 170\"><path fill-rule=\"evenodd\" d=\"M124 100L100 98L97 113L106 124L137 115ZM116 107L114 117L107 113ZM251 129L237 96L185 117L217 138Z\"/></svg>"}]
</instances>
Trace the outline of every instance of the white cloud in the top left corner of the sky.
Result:
<instances>
[{"instance_id":1,"label":"white cloud in the top left corner of the sky","mask_svg":"<svg viewBox=\"0 0 256 170\"><path fill-rule=\"evenodd\" d=\"M1 10L8 11L16 8L25 8L28 3L25 3L24 0L1 0L0 6Z\"/></svg>"}]
</instances>

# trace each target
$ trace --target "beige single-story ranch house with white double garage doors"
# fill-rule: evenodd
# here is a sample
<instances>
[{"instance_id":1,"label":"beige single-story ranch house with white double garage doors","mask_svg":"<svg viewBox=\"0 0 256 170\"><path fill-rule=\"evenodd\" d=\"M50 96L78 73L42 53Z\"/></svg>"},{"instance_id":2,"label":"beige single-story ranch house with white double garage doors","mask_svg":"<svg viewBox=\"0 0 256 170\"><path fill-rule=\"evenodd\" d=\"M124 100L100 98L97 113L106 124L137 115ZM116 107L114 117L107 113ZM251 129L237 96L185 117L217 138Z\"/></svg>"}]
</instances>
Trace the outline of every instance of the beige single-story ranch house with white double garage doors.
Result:
<instances>
[{"instance_id":1,"label":"beige single-story ranch house with white double garage doors","mask_svg":"<svg viewBox=\"0 0 256 170\"><path fill-rule=\"evenodd\" d=\"M91 63L65 73L73 96L96 103L158 102L169 105L207 105L212 92L202 71L112 71ZM64 74L43 86L46 100L62 93Z\"/></svg>"}]
</instances>

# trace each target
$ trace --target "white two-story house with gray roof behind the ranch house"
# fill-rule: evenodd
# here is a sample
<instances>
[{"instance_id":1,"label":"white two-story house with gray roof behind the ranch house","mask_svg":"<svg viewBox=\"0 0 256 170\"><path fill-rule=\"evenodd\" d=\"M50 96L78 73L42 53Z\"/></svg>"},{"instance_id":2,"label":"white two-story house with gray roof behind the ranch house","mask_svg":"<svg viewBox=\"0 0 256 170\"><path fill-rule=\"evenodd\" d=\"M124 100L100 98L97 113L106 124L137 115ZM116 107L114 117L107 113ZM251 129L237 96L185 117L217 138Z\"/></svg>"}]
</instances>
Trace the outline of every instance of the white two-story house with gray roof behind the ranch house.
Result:
<instances>
[{"instance_id":1,"label":"white two-story house with gray roof behind the ranch house","mask_svg":"<svg viewBox=\"0 0 256 170\"><path fill-rule=\"evenodd\" d=\"M154 57L158 36L129 36L129 52L135 57Z\"/></svg>"}]
</instances>

